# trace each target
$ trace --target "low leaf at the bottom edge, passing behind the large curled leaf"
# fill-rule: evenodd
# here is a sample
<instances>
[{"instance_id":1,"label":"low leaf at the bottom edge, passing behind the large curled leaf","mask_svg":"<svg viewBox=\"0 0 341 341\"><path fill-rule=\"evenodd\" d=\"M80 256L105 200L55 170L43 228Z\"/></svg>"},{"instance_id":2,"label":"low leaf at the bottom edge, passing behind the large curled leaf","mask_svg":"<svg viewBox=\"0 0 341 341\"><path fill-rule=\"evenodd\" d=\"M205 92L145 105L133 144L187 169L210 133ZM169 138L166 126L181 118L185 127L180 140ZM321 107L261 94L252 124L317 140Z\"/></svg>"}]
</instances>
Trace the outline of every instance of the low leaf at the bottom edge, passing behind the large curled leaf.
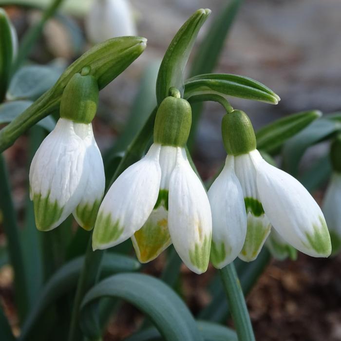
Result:
<instances>
[{"instance_id":1,"label":"low leaf at the bottom edge, passing behind the large curled leaf","mask_svg":"<svg viewBox=\"0 0 341 341\"><path fill-rule=\"evenodd\" d=\"M205 341L238 341L236 333L223 325L197 321L198 329ZM162 341L160 333L155 327L150 327L139 331L124 341Z\"/></svg>"}]
</instances>

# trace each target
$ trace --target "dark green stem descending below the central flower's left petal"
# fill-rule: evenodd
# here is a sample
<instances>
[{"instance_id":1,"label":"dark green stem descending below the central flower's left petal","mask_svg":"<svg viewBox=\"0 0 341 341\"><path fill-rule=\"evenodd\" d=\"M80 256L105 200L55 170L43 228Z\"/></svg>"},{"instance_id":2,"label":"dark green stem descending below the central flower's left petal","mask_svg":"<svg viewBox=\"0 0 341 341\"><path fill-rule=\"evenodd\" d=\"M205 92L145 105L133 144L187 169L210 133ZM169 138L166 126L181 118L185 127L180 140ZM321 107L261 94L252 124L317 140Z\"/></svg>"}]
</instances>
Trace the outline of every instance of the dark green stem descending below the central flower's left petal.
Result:
<instances>
[{"instance_id":1,"label":"dark green stem descending below the central flower's left petal","mask_svg":"<svg viewBox=\"0 0 341 341\"><path fill-rule=\"evenodd\" d=\"M93 251L92 238L89 240L85 260L77 284L76 296L71 316L69 341L82 340L78 324L79 306L85 293L97 282L100 274L100 264L104 255L103 250Z\"/></svg>"}]
</instances>

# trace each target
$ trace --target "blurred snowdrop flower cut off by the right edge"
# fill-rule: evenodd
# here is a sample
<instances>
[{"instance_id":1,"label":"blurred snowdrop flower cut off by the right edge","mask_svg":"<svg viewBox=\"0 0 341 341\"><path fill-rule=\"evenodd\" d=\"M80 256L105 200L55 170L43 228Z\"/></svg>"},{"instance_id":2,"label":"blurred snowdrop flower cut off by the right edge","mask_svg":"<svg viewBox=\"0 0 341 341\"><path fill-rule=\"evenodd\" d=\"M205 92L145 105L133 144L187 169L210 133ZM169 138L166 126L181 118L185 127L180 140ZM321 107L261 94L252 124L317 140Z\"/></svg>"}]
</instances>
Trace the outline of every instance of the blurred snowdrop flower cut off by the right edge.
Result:
<instances>
[{"instance_id":1,"label":"blurred snowdrop flower cut off by the right edge","mask_svg":"<svg viewBox=\"0 0 341 341\"><path fill-rule=\"evenodd\" d=\"M331 145L330 159L333 174L325 193L322 211L329 227L332 253L336 254L341 249L341 136Z\"/></svg>"}]
</instances>

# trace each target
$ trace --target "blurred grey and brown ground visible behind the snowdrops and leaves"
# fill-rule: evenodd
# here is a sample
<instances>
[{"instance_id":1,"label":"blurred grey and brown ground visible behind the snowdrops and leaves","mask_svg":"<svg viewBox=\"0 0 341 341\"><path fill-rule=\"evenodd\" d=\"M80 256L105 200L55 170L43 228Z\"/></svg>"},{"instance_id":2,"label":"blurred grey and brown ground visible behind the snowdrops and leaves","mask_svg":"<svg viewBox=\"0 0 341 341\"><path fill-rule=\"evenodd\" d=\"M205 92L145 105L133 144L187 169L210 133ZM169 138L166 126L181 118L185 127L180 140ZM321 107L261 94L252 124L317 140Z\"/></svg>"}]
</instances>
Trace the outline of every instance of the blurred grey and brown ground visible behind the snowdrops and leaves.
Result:
<instances>
[{"instance_id":1,"label":"blurred grey and brown ground visible behind the snowdrops and leaves","mask_svg":"<svg viewBox=\"0 0 341 341\"><path fill-rule=\"evenodd\" d=\"M21 1L24 2L24 1ZM37 0L37 5L48 1ZM62 18L48 22L30 59L39 64L69 65L90 46L84 30L84 18L93 1L65 1ZM101 151L113 145L124 129L133 98L139 91L146 68L156 78L158 62L184 21L201 7L212 10L198 40L226 6L223 0L131 0L133 18L139 36L148 38L146 51L126 72L101 91L101 103L94 121L95 138ZM39 18L40 12L19 6L6 6L20 37ZM277 106L232 99L235 109L244 110L257 128L286 114L318 109L323 113L341 107L341 1L339 0L245 0L225 41L216 72L254 78L280 95ZM70 21L66 21L70 20ZM198 44L196 45L198 46ZM195 52L195 47L194 47ZM189 60L190 66L190 60ZM149 86L154 91L154 80ZM218 104L207 103L199 124L193 149L194 162L204 180L219 168L225 158L220 122L224 112ZM326 146L308 151L303 162L311 162ZM9 162L16 208L24 207L27 195L27 137L22 136L5 152ZM324 188L314 193L321 201ZM22 217L21 217L22 218ZM3 236L1 236L2 238ZM0 243L4 243L3 238ZM149 264L145 271L159 274L163 257ZM322 341L341 340L341 256L314 259L302 254L294 261L271 261L258 284L247 298L257 340ZM207 284L214 274L209 268L197 276L182 268L184 281L178 288L195 314L210 302ZM12 272L0 268L0 296L13 324ZM105 340L121 340L136 329L141 315L122 304L120 313L110 323ZM227 319L226 322L231 322Z\"/></svg>"}]
</instances>

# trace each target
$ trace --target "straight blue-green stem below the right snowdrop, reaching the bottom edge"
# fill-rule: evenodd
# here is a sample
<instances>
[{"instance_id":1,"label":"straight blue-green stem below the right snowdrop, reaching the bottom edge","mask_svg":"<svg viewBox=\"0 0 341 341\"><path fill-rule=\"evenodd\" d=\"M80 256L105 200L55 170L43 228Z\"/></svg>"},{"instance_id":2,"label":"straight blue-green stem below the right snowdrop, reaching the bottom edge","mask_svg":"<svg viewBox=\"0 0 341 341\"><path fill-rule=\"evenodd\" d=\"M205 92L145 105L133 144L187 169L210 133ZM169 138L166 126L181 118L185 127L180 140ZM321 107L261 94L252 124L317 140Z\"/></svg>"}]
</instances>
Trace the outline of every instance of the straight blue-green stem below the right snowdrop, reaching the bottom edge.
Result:
<instances>
[{"instance_id":1,"label":"straight blue-green stem below the right snowdrop, reaching the bottom edge","mask_svg":"<svg viewBox=\"0 0 341 341\"><path fill-rule=\"evenodd\" d=\"M255 341L242 287L233 263L219 270L239 341Z\"/></svg>"}]
</instances>

